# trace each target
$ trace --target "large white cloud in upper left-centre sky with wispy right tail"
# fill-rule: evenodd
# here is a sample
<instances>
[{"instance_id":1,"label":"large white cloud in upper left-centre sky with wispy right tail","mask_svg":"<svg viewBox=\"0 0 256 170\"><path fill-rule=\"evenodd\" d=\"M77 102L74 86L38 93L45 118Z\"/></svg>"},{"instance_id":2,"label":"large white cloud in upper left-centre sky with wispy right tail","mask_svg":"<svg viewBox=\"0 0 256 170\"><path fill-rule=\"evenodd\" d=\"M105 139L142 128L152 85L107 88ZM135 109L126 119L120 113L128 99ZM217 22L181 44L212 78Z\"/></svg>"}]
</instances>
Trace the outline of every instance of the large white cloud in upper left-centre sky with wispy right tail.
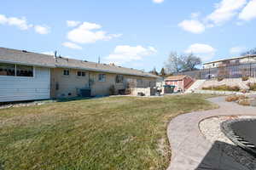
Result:
<instances>
[{"instance_id":1,"label":"large white cloud in upper left-centre sky with wispy right tail","mask_svg":"<svg viewBox=\"0 0 256 170\"><path fill-rule=\"evenodd\" d=\"M67 39L77 43L94 43L96 41L108 41L113 37L120 37L121 34L108 34L106 31L99 30L102 26L95 23L84 22L67 33ZM99 31L97 31L99 30Z\"/></svg>"}]
</instances>

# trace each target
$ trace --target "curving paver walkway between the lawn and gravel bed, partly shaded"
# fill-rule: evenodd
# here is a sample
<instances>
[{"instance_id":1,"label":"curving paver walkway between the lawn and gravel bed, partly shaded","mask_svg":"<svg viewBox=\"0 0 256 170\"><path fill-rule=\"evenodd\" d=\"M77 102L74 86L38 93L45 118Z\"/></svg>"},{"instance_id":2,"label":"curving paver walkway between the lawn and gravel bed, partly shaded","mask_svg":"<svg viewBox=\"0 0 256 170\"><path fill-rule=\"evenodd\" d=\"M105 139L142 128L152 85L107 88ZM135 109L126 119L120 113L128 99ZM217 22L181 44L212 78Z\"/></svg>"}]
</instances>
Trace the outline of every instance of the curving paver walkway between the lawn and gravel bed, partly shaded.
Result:
<instances>
[{"instance_id":1,"label":"curving paver walkway between the lawn and gravel bed, partly shaded","mask_svg":"<svg viewBox=\"0 0 256 170\"><path fill-rule=\"evenodd\" d=\"M211 116L256 115L256 107L224 101L224 97L208 99L219 105L212 111L198 111L177 116L168 125L172 161L167 170L247 170L221 151L221 142L211 144L199 130L199 122Z\"/></svg>"}]
</instances>

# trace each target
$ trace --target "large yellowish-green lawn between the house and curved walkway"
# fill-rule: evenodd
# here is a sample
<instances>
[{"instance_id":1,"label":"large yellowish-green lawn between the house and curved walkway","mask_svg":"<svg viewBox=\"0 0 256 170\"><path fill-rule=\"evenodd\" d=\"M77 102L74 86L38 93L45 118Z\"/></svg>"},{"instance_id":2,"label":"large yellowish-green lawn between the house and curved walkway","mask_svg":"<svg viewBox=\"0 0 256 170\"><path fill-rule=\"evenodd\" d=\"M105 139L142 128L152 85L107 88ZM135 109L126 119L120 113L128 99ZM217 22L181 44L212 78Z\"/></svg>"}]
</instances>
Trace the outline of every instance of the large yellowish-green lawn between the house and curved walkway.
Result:
<instances>
[{"instance_id":1,"label":"large yellowish-green lawn between the house and curved walkway","mask_svg":"<svg viewBox=\"0 0 256 170\"><path fill-rule=\"evenodd\" d=\"M166 169L167 123L209 95L110 97L0 110L0 169Z\"/></svg>"}]
</instances>

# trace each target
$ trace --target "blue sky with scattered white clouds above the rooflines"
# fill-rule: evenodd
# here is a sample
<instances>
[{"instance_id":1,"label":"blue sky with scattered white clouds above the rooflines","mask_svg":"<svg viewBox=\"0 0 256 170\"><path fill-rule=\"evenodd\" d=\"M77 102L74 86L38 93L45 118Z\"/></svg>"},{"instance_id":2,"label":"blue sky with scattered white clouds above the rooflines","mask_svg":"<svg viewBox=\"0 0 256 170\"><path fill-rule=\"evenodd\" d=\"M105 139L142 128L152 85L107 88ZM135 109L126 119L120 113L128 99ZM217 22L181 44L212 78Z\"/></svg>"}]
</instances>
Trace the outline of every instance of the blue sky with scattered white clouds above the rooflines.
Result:
<instances>
[{"instance_id":1,"label":"blue sky with scattered white clouds above the rooflines","mask_svg":"<svg viewBox=\"0 0 256 170\"><path fill-rule=\"evenodd\" d=\"M0 46L150 71L171 51L222 59L255 48L256 0L4 1Z\"/></svg>"}]
</instances>

